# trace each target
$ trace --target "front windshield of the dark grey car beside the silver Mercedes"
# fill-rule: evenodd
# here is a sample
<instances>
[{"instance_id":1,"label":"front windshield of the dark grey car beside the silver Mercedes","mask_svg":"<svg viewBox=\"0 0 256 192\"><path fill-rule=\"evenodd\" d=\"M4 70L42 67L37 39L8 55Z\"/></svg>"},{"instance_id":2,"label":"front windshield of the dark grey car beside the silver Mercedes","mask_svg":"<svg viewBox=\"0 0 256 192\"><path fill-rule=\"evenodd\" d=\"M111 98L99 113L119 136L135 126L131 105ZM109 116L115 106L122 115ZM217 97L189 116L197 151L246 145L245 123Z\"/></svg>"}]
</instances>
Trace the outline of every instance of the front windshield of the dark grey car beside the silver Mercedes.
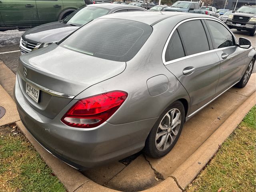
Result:
<instances>
[{"instance_id":1,"label":"front windshield of the dark grey car beside the silver Mercedes","mask_svg":"<svg viewBox=\"0 0 256 192\"><path fill-rule=\"evenodd\" d=\"M108 14L110 10L105 8L99 8L94 6L86 6L78 12L71 14L63 20L63 23L73 25L73 26L82 26L91 20L94 20L100 16Z\"/></svg>"}]
</instances>

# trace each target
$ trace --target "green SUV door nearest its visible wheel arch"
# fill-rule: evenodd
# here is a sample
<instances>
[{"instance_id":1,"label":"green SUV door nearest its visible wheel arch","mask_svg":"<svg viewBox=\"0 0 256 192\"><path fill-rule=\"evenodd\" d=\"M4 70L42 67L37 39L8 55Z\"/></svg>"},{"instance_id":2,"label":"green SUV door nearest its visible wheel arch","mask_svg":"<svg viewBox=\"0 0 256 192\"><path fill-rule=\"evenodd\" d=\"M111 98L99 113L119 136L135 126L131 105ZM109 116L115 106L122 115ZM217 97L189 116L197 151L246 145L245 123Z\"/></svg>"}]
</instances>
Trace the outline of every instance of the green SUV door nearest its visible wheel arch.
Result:
<instances>
[{"instance_id":1,"label":"green SUV door nearest its visible wheel arch","mask_svg":"<svg viewBox=\"0 0 256 192\"><path fill-rule=\"evenodd\" d=\"M63 10L62 0L36 0L36 6L41 24L57 21Z\"/></svg>"}]
</instances>

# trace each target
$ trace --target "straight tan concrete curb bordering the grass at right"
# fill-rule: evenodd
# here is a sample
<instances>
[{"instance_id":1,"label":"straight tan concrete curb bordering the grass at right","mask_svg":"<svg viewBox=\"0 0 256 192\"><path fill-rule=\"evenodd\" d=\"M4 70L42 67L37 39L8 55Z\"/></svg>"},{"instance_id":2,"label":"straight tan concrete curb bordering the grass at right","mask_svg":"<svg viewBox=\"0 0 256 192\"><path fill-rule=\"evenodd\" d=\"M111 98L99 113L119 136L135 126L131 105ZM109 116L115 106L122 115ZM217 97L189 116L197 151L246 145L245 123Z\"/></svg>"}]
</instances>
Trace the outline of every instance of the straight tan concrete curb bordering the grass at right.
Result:
<instances>
[{"instance_id":1,"label":"straight tan concrete curb bordering the grass at right","mask_svg":"<svg viewBox=\"0 0 256 192\"><path fill-rule=\"evenodd\" d=\"M198 173L204 168L207 162L218 151L220 145L230 136L244 116L256 103L255 92L240 105L226 121L173 173L177 184L183 190L194 180Z\"/></svg>"}]
</instances>

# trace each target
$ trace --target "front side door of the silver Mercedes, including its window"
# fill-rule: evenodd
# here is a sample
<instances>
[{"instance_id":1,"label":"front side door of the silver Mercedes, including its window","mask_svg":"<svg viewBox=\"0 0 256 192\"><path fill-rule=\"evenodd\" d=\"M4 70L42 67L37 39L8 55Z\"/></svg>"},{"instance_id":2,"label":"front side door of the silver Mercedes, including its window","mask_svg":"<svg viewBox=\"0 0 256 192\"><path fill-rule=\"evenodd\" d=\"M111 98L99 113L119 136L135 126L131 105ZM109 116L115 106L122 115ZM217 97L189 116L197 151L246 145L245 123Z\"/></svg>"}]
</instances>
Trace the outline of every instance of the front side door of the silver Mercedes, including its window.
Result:
<instances>
[{"instance_id":1,"label":"front side door of the silver Mercedes, including its window","mask_svg":"<svg viewBox=\"0 0 256 192\"><path fill-rule=\"evenodd\" d=\"M224 24L215 20L205 20L214 49L220 58L220 80L216 95L233 86L240 80L245 68L246 55L243 48L236 45L233 34Z\"/></svg>"}]
</instances>

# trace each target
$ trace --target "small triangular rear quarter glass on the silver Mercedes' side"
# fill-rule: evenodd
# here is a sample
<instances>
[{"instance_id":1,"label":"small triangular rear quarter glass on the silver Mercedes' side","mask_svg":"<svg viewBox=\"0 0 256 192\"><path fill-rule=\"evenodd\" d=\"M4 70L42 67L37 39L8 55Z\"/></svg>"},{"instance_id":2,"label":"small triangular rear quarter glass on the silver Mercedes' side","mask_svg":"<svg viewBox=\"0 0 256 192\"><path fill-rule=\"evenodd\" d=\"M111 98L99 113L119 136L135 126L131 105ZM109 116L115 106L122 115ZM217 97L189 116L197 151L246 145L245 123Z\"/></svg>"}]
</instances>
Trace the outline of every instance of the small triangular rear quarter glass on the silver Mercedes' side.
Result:
<instances>
[{"instance_id":1,"label":"small triangular rear quarter glass on the silver Mercedes' side","mask_svg":"<svg viewBox=\"0 0 256 192\"><path fill-rule=\"evenodd\" d=\"M184 57L184 50L177 30L174 31L165 52L165 61L171 61Z\"/></svg>"}]
</instances>

